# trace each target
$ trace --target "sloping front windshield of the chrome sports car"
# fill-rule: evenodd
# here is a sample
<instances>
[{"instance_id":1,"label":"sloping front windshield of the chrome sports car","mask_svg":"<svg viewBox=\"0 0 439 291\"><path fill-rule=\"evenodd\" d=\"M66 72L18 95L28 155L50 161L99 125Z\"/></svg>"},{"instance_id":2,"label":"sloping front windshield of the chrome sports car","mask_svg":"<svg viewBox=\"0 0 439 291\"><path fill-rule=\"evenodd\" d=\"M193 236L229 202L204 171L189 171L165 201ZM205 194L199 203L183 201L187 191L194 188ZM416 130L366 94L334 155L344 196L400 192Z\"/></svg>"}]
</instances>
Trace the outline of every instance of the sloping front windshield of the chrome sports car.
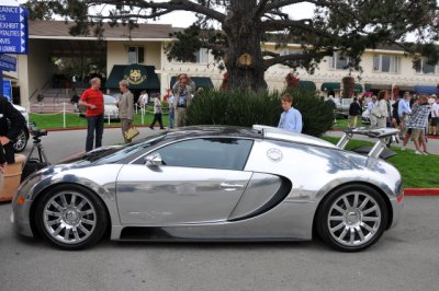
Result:
<instances>
[{"instance_id":1,"label":"sloping front windshield of the chrome sports car","mask_svg":"<svg viewBox=\"0 0 439 291\"><path fill-rule=\"evenodd\" d=\"M135 154L144 149L147 149L147 148L158 143L166 137L166 135L167 135L166 132L160 132L158 135L148 137L146 139L139 140L137 142L130 143L125 147L120 148L120 150L116 152L112 152L101 159L98 159L98 160L91 161L91 162L94 162L95 164L117 163L119 161L126 159L132 154Z\"/></svg>"}]
</instances>

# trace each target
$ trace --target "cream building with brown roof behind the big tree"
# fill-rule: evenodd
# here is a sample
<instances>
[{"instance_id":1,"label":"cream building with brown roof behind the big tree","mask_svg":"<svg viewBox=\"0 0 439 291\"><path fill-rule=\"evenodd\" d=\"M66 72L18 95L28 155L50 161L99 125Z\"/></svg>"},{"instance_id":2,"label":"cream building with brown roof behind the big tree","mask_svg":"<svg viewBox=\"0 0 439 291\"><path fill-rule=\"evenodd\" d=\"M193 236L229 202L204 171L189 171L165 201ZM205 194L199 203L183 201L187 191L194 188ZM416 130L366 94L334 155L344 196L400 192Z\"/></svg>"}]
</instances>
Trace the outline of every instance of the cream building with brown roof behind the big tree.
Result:
<instances>
[{"instance_id":1,"label":"cream building with brown roof behind the big tree","mask_svg":"<svg viewBox=\"0 0 439 291\"><path fill-rule=\"evenodd\" d=\"M18 71L4 77L10 79L15 90L14 101L25 107L35 102L37 94L54 85L57 72L52 57L99 57L105 58L108 77L106 86L116 90L114 84L122 78L130 78L134 89L146 89L149 92L164 94L170 86L171 79L184 72L195 79L201 86L219 86L223 73L215 67L213 56L205 49L195 55L196 61L182 63L170 61L165 54L165 46L171 42L170 33L177 28L162 24L140 24L128 32L125 26L105 27L103 38L94 36L71 36L69 25L59 21L30 21L29 55L18 55ZM277 49L274 43L262 44L263 50L290 54L300 50L300 45L291 44L286 48ZM341 79L349 74L346 65L338 54L327 57L314 74L299 69L301 81L309 81L322 94L340 90ZM413 69L412 59L399 48L369 49L362 56L363 72L357 80L359 93L363 91L391 90L398 85L401 91L417 93L436 92L439 80L439 65L427 66L423 62L420 71ZM275 65L266 72L270 89L282 90L284 78L291 68ZM79 72L80 73L80 72ZM352 72L358 77L358 72ZM59 83L57 84L60 85ZM63 83L68 88L68 82ZM325 93L326 92L326 93Z\"/></svg>"}]
</instances>

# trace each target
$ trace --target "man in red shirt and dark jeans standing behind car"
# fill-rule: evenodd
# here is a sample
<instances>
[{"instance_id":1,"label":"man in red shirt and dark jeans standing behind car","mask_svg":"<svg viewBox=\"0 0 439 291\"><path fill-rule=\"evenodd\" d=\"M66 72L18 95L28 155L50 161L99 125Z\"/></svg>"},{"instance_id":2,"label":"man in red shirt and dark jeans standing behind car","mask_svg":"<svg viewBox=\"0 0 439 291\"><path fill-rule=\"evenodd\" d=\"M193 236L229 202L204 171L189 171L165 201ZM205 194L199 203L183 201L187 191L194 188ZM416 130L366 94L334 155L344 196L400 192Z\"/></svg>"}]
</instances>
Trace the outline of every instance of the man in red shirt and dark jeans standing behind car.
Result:
<instances>
[{"instance_id":1,"label":"man in red shirt and dark jeans standing behind car","mask_svg":"<svg viewBox=\"0 0 439 291\"><path fill-rule=\"evenodd\" d=\"M103 133L103 93L99 90L101 88L101 80L93 78L90 80L91 88L83 91L79 105L86 106L87 117L87 141L86 151L89 152L93 149L93 140L95 132L94 148L102 146Z\"/></svg>"}]
</instances>

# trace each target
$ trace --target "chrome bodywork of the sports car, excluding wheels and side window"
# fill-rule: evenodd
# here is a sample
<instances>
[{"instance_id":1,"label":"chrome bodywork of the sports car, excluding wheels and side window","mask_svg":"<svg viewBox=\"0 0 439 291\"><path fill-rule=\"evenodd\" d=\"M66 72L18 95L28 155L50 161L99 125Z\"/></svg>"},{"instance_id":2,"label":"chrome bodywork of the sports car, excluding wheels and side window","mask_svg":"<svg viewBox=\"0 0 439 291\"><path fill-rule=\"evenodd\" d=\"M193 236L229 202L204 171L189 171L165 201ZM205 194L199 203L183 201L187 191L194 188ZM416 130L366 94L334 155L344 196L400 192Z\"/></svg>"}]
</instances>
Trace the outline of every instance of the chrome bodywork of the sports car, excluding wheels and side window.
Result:
<instances>
[{"instance_id":1,"label":"chrome bodywork of the sports car, excluding wheels and side window","mask_svg":"<svg viewBox=\"0 0 439 291\"><path fill-rule=\"evenodd\" d=\"M32 202L47 187L65 183L90 188L102 199L112 240L121 240L130 226L160 229L176 240L311 240L322 199L349 183L382 191L392 208L391 226L396 225L403 185L392 165L313 137L267 127L256 130L263 135L243 136L255 140L243 171L132 163L143 161L154 147L125 164L48 167L21 185L12 205L13 225L19 233L32 235ZM212 132L206 129L205 136ZM157 147L191 138L196 137L173 135ZM25 198L24 205L16 203L18 197Z\"/></svg>"}]
</instances>

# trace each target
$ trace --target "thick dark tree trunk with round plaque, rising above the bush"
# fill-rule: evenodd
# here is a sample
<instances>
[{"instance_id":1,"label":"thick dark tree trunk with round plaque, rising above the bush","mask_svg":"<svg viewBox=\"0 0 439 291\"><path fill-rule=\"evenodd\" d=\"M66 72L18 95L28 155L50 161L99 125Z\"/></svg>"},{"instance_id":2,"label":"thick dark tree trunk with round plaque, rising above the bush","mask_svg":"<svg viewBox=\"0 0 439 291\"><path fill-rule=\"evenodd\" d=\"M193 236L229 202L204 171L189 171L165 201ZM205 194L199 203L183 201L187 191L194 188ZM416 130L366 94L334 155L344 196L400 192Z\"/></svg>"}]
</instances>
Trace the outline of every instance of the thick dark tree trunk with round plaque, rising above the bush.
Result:
<instances>
[{"instance_id":1,"label":"thick dark tree trunk with round plaque, rising above the bush","mask_svg":"<svg viewBox=\"0 0 439 291\"><path fill-rule=\"evenodd\" d=\"M224 62L229 89L258 91L267 88L260 48L261 19L252 16L256 7L256 0L230 1L223 25L228 38Z\"/></svg>"}]
</instances>

